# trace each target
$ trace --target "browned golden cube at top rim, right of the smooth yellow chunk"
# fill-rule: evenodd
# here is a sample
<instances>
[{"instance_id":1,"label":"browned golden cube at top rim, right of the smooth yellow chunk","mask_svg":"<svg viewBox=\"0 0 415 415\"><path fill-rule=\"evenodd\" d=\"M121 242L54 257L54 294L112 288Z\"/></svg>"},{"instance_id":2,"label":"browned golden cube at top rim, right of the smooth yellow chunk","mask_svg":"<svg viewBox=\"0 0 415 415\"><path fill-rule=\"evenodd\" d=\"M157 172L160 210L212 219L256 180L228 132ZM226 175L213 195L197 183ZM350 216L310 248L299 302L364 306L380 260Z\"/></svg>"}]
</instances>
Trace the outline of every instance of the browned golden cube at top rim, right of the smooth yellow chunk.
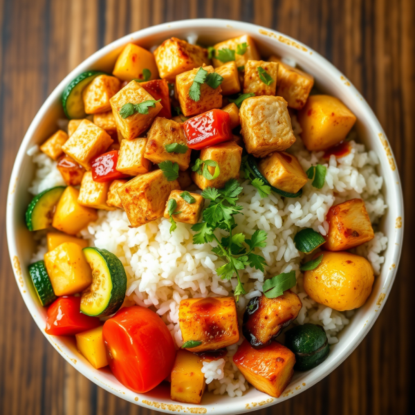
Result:
<instances>
[{"instance_id":1,"label":"browned golden cube at top rim, right of the smooth yellow chunk","mask_svg":"<svg viewBox=\"0 0 415 415\"><path fill-rule=\"evenodd\" d=\"M160 44L154 50L154 57L160 78L169 82L174 82L179 73L209 64L207 49L191 45L177 37L167 39Z\"/></svg>"}]
</instances>

